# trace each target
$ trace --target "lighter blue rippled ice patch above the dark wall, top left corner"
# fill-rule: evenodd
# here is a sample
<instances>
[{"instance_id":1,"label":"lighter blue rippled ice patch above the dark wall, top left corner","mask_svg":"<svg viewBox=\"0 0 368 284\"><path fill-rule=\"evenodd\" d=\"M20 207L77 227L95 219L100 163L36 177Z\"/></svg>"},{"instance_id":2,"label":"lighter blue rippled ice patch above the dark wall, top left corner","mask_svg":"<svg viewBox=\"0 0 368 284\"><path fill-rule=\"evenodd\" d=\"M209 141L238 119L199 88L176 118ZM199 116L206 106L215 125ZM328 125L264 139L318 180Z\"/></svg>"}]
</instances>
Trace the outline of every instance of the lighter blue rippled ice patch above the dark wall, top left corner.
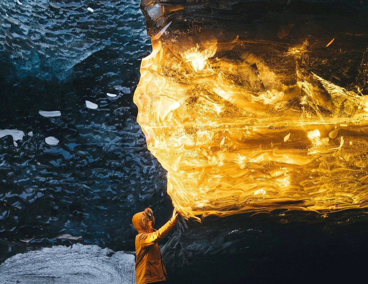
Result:
<instances>
[{"instance_id":1,"label":"lighter blue rippled ice patch above the dark wall, top left corner","mask_svg":"<svg viewBox=\"0 0 368 284\"><path fill-rule=\"evenodd\" d=\"M95 52L121 42L139 1L0 0L0 46L17 68L60 78ZM131 18L126 17L130 14ZM137 31L138 32L138 31ZM140 31L139 31L140 32ZM44 72L43 67L52 71Z\"/></svg>"}]
</instances>

